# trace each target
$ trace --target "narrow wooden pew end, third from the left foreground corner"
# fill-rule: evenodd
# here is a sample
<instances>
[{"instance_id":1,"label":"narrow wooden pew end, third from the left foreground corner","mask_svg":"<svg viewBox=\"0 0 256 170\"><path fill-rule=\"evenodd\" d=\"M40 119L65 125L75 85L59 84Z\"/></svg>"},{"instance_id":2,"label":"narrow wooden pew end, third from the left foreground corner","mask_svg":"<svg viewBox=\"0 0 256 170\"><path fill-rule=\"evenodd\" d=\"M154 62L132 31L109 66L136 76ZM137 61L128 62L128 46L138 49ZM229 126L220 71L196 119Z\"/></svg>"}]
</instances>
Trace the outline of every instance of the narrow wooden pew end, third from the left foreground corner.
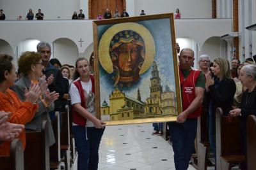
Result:
<instances>
[{"instance_id":1,"label":"narrow wooden pew end, third from the left foreground corner","mask_svg":"<svg viewBox=\"0 0 256 170\"><path fill-rule=\"evenodd\" d=\"M55 120L52 122L55 143L50 146L50 169L60 169L60 113L55 112Z\"/></svg>"}]
</instances>

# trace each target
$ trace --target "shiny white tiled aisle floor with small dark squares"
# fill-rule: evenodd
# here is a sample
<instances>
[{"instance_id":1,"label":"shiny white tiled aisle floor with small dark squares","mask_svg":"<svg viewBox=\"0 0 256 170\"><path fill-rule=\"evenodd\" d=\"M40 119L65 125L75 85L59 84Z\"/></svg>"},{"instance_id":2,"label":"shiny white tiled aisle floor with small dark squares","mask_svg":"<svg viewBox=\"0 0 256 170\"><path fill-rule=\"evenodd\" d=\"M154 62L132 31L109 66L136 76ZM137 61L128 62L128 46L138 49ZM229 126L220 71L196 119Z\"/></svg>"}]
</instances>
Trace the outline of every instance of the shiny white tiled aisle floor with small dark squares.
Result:
<instances>
[{"instance_id":1,"label":"shiny white tiled aisle floor with small dark squares","mask_svg":"<svg viewBox=\"0 0 256 170\"><path fill-rule=\"evenodd\" d=\"M100 143L99 170L175 169L172 146L152 132L152 124L106 127ZM73 169L77 169L76 162Z\"/></svg>"}]
</instances>

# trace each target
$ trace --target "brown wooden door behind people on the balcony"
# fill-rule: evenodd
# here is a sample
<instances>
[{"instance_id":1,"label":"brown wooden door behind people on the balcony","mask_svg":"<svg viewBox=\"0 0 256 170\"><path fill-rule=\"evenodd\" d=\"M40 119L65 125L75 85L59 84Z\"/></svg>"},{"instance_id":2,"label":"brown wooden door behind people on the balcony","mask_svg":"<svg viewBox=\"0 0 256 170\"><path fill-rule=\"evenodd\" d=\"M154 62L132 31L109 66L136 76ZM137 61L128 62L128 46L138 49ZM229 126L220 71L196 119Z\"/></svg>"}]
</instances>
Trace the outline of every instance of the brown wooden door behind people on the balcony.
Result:
<instances>
[{"instance_id":1,"label":"brown wooden door behind people on the balcony","mask_svg":"<svg viewBox=\"0 0 256 170\"><path fill-rule=\"evenodd\" d=\"M91 0L89 1L89 18L96 19L99 13L103 16L106 8L109 9L113 17L115 9L117 8L122 13L125 5L125 0Z\"/></svg>"}]
</instances>

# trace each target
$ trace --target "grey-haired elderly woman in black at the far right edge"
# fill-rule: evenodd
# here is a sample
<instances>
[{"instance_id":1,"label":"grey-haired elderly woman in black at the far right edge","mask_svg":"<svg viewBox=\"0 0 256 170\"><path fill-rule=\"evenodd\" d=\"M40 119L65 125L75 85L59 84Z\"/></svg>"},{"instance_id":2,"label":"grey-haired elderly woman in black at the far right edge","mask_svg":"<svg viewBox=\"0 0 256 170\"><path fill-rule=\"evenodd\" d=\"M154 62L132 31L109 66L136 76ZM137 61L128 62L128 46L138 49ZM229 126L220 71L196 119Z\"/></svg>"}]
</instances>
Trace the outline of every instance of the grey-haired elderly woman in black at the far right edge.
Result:
<instances>
[{"instance_id":1,"label":"grey-haired elderly woman in black at the far right edge","mask_svg":"<svg viewBox=\"0 0 256 170\"><path fill-rule=\"evenodd\" d=\"M256 115L256 66L248 64L240 71L240 80L247 89L243 93L241 106L230 111L232 117L240 117L241 133L243 139L243 150L246 155L246 119L249 115Z\"/></svg>"}]
</instances>

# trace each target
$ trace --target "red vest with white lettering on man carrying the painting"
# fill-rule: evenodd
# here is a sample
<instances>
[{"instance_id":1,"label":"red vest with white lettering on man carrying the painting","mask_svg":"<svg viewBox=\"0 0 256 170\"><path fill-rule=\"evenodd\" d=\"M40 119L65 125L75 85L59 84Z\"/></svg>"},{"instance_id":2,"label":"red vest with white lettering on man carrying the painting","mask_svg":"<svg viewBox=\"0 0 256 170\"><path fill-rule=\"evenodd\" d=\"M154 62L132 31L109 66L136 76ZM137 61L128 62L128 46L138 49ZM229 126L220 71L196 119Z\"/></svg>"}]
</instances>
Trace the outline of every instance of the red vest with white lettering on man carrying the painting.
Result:
<instances>
[{"instance_id":1,"label":"red vest with white lettering on man carrying the painting","mask_svg":"<svg viewBox=\"0 0 256 170\"><path fill-rule=\"evenodd\" d=\"M200 71L191 70L188 77L184 78L184 75L179 69L180 73L180 87L182 87L182 110L186 110L190 103L195 99L195 83L198 79ZM193 112L188 115L188 118L200 117L202 113L202 104Z\"/></svg>"}]
</instances>

